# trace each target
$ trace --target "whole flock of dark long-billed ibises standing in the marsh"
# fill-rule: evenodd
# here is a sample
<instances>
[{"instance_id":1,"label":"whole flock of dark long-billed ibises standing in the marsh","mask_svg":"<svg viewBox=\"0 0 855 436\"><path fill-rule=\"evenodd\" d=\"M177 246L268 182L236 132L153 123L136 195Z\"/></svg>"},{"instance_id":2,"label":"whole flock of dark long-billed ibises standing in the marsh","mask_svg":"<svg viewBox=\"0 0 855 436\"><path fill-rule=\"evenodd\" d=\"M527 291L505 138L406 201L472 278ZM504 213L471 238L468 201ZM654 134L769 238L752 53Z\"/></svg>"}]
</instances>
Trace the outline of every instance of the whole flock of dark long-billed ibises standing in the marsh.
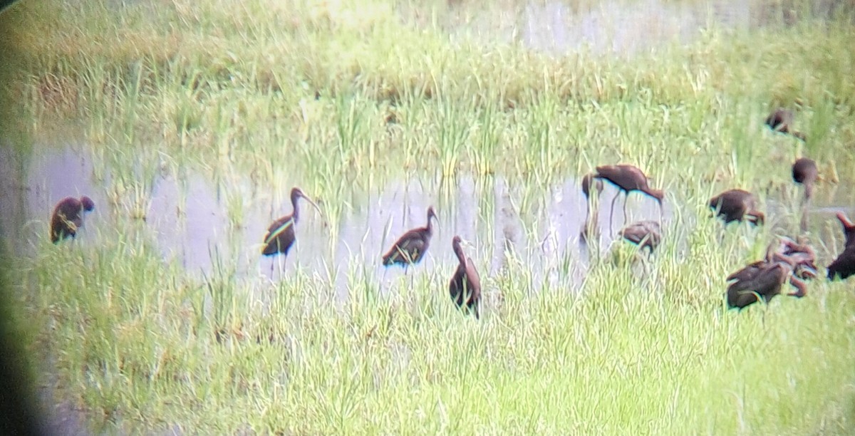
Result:
<instances>
[{"instance_id":1,"label":"whole flock of dark long-billed ibises standing in the marsh","mask_svg":"<svg viewBox=\"0 0 855 436\"><path fill-rule=\"evenodd\" d=\"M775 132L787 133L795 138L805 140L803 133L793 130L793 113L787 109L775 109L766 119L765 124ZM793 180L805 186L805 196L802 201L803 215L801 221L802 231L806 230L806 207L811 199L814 182L817 180L817 164L811 159L802 157L793 163ZM597 234L596 211L590 207L590 195L592 190L603 191L603 180L609 181L617 187L618 194L623 192L623 215L624 221L627 217L626 197L632 191L640 191L654 198L659 204L659 221L637 221L623 227L618 233L623 239L639 245L652 253L662 240L661 226L663 209L662 202L664 192L653 189L648 185L646 175L633 165L606 165L596 168L596 172L587 174L581 180L581 189L588 198L588 208L585 228L581 232L581 240L586 241ZM619 195L611 201L609 215L609 226L612 225L615 203ZM274 221L263 239L263 256L274 256L278 254L287 255L295 240L294 226L299 219L298 200L303 198L315 209L318 208L309 197L299 188L291 191L291 203L293 212L291 215L282 216ZM709 203L714 215L721 218L725 223L732 221L748 221L754 225L764 224L765 215L757 209L757 200L751 192L731 189L712 197ZM55 244L61 239L74 238L77 229L83 225L84 212L95 209L95 204L89 197L67 197L56 204L53 216L50 220L50 239ZM837 214L838 220L843 226L845 235L845 249L834 262L828 265L828 279L846 279L855 274L855 224L846 218L846 215ZM414 228L402 235L392 248L382 256L383 265L402 265L405 268L422 260L430 245L433 234L433 221L437 220L433 207L428 208L428 223L425 227ZM611 231L611 228L610 228ZM481 280L475 263L463 253L463 239L455 236L451 239L451 247L457 256L457 270L449 282L449 294L451 301L466 313L474 313L479 316L481 302ZM781 286L789 282L796 291L787 295L793 297L805 296L805 281L817 276L816 254L804 239L793 241L783 238L773 245L769 245L766 257L758 262L752 262L745 268L740 269L728 276L728 290L726 299L731 308L744 308L758 301L769 302L769 299L781 293Z\"/></svg>"}]
</instances>

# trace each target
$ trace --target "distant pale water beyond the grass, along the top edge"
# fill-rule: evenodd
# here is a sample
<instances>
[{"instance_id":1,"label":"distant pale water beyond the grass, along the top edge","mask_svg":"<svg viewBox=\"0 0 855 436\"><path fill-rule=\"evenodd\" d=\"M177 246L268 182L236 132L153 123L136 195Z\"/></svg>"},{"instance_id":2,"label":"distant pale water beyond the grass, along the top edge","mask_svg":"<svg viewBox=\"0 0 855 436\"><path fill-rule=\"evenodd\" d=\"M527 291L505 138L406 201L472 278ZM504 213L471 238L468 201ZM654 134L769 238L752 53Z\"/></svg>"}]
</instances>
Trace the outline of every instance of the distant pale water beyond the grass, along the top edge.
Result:
<instances>
[{"instance_id":1,"label":"distant pale water beyond the grass, along the top edge","mask_svg":"<svg viewBox=\"0 0 855 436\"><path fill-rule=\"evenodd\" d=\"M808 5L814 17L830 18L840 0L820 0ZM801 6L799 6L801 8ZM571 51L632 55L676 41L687 44L706 28L746 29L793 25L799 9L780 2L713 0L666 2L610 0L572 7L555 0L521 5L485 6L460 1L451 6L441 25L452 36L467 36L486 45L519 43L554 55ZM402 10L404 20L418 23L418 10Z\"/></svg>"}]
</instances>

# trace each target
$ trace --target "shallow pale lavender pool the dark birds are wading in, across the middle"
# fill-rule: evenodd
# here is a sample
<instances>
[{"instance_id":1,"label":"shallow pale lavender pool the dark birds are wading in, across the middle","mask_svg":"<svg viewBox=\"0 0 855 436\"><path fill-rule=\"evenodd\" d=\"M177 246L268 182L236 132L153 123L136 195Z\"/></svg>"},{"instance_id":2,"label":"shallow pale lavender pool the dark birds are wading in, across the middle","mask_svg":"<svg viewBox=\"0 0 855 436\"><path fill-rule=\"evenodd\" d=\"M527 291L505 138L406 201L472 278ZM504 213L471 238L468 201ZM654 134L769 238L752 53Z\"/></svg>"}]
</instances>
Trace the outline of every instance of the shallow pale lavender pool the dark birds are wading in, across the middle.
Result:
<instances>
[{"instance_id":1,"label":"shallow pale lavender pool the dark birds are wading in, across the middle","mask_svg":"<svg viewBox=\"0 0 855 436\"><path fill-rule=\"evenodd\" d=\"M552 286L578 288L591 256L580 238L587 199L581 192L581 180L575 177L539 186L528 197L520 183L501 177L477 181L462 175L444 183L399 180L345 193L347 204L340 208L336 220L324 213L327 200L304 188L320 211L300 201L297 241L289 255L261 256L262 239L270 223L292 213L290 187L269 192L254 186L249 178L215 181L193 170L156 174L141 184L148 191L134 194L143 198L140 203L144 210L133 213L115 200L115 194L109 194L103 181L97 182L92 161L82 144L39 152L24 164L3 155L0 219L7 233L4 236L15 241L17 250L27 252L45 244L53 205L63 197L85 194L93 198L97 209L86 216L75 244L99 244L115 237L116 228L133 221L144 228L145 238L157 246L164 262L178 262L188 274L201 277L215 273L215 268L227 268L239 277L280 280L299 268L333 281L339 298L347 297L351 274L369 274L388 286L390 280L408 273L404 268L382 266L380 256L408 229L426 225L429 206L436 209L439 223L427 256L412 268L413 274L438 274L447 280L457 264L451 250L454 235L471 243L468 254L482 275L498 274L506 262L540 265L532 268L534 289L544 280ZM100 180L109 178L110 174L100 175ZM655 179L652 184L656 185ZM765 201L769 216L789 216L788 220L772 221L772 225L782 227L783 234L796 222L793 215L799 191L792 187L770 192ZM852 213L852 207L843 205L851 204L852 199L842 195L846 193L822 187L817 190L808 209L814 233L833 232L836 212ZM593 216L600 230L598 247L604 253L622 243L616 234L626 224L659 219L659 208L652 198L637 192L624 198L609 183L598 197L599 213ZM613 201L614 215L610 218ZM623 217L624 201L627 221ZM663 203L665 233L671 227L693 227L695 221L709 219L681 212L677 214L680 222L675 223L675 209L693 209L675 201L674 195L668 195ZM678 242L678 249L683 245L685 241Z\"/></svg>"}]
</instances>

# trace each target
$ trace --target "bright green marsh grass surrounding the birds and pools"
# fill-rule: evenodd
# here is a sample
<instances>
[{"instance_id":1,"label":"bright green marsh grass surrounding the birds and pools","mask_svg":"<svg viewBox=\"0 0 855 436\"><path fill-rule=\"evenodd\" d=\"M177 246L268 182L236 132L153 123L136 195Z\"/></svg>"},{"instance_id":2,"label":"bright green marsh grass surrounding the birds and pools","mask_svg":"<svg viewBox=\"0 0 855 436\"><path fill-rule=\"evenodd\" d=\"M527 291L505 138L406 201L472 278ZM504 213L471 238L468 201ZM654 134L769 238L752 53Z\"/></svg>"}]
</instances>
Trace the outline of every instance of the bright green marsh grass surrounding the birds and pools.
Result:
<instances>
[{"instance_id":1,"label":"bright green marsh grass surrounding the birds and pools","mask_svg":"<svg viewBox=\"0 0 855 436\"><path fill-rule=\"evenodd\" d=\"M798 223L721 236L705 206L730 187L776 197L798 153L841 191L855 181L852 15L807 5L793 26L548 56L449 37L480 13L468 2L17 4L0 15L20 60L4 72L21 102L9 142L33 157L47 138L82 139L109 200L85 243L52 245L38 222L15 237L33 248L9 262L28 359L107 433L852 433L851 284L725 310L727 274ZM806 144L763 128L771 107L797 104ZM596 258L579 292L575 258L529 267L536 256L508 252L488 274L494 183L540 240L545 192L615 162L668 191L656 255ZM272 284L217 251L210 274L164 261L141 218L158 177L189 172L221 189L235 232L292 186L322 198L309 222L329 225L325 267ZM448 302L441 262L391 290L371 265L335 272L339 224L364 192L420 180L442 214L470 176L484 193L470 255L481 321ZM834 234L814 240L823 262L840 246L828 227L812 235Z\"/></svg>"}]
</instances>

